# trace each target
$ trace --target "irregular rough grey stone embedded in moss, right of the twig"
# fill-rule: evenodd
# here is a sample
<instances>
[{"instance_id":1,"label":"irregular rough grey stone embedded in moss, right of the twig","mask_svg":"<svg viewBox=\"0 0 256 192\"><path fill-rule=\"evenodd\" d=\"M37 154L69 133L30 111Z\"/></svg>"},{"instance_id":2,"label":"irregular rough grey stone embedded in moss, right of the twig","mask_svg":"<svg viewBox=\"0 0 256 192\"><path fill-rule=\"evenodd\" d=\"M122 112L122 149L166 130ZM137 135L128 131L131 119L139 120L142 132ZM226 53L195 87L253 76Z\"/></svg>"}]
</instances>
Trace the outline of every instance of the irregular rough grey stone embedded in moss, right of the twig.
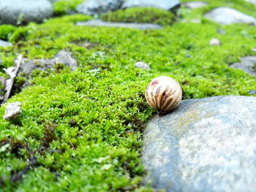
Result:
<instances>
[{"instance_id":1,"label":"irregular rough grey stone embedded in moss, right of the twig","mask_svg":"<svg viewBox=\"0 0 256 192\"><path fill-rule=\"evenodd\" d=\"M29 61L29 59L24 58L20 65L18 76L31 77L34 70L46 71L48 69L54 69L55 64L64 64L75 70L78 62L72 58L70 52L65 50L61 50L54 58L50 59L33 59ZM29 85L29 81L24 84L24 86L26 85Z\"/></svg>"}]
</instances>

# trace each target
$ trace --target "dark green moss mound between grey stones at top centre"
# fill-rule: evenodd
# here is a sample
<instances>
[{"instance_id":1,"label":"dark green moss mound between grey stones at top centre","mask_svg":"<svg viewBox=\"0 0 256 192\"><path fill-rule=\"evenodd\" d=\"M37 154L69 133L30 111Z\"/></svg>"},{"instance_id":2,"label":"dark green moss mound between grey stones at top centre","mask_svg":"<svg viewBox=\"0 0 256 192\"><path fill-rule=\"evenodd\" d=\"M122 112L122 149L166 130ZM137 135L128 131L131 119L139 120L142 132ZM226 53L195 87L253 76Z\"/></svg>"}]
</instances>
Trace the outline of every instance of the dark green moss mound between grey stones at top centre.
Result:
<instances>
[{"instance_id":1,"label":"dark green moss mound between grey stones at top centre","mask_svg":"<svg viewBox=\"0 0 256 192\"><path fill-rule=\"evenodd\" d=\"M148 7L135 7L116 12L109 12L101 16L102 20L114 22L157 23L171 25L175 20L171 12Z\"/></svg>"}]
</instances>

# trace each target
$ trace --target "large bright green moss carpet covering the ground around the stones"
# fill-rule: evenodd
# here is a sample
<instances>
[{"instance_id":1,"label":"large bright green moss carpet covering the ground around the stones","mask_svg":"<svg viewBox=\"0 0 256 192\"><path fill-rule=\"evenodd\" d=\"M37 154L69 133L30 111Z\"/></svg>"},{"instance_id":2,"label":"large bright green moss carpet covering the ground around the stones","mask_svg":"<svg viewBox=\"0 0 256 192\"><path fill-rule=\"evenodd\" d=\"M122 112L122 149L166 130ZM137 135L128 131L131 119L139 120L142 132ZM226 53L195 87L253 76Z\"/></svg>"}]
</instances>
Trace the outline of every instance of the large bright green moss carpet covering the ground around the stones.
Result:
<instances>
[{"instance_id":1,"label":"large bright green moss carpet covering the ground around the stones","mask_svg":"<svg viewBox=\"0 0 256 192\"><path fill-rule=\"evenodd\" d=\"M256 7L244 0L207 1L200 9L182 7L176 22L161 30L75 26L89 20L86 15L2 26L0 37L13 42L0 47L2 75L18 54L53 58L69 50L80 67L39 74L9 99L20 101L23 112L12 122L0 118L0 191L152 191L143 185L140 159L143 128L156 114L143 96L152 78L175 78L184 99L247 96L256 89L255 77L229 67L256 55L255 26L203 19L223 5L256 17ZM194 18L202 23L189 22ZM212 38L222 45L209 46ZM151 69L135 68L136 61Z\"/></svg>"}]
</instances>

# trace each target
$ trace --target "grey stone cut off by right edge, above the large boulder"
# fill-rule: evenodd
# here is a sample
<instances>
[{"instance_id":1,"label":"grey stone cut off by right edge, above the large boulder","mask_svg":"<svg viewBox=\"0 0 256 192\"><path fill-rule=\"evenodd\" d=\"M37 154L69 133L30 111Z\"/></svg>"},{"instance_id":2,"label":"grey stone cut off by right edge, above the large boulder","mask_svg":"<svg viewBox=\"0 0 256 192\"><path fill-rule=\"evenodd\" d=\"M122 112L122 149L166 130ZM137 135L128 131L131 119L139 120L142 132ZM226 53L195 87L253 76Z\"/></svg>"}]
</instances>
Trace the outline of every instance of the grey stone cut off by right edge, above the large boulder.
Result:
<instances>
[{"instance_id":1,"label":"grey stone cut off by right edge, above the large boulder","mask_svg":"<svg viewBox=\"0 0 256 192\"><path fill-rule=\"evenodd\" d=\"M256 56L243 57L241 62L231 64L230 66L256 76Z\"/></svg>"}]
</instances>

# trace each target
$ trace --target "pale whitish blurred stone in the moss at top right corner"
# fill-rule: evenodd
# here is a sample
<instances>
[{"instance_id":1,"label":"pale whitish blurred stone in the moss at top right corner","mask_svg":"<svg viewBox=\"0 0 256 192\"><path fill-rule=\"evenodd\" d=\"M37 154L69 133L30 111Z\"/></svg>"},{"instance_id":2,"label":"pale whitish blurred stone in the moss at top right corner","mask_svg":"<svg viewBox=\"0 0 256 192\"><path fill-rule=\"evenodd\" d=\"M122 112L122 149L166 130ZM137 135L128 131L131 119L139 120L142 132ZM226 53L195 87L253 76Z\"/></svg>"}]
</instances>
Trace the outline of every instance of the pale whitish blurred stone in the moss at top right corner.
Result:
<instances>
[{"instance_id":1,"label":"pale whitish blurred stone in the moss at top right corner","mask_svg":"<svg viewBox=\"0 0 256 192\"><path fill-rule=\"evenodd\" d=\"M256 25L255 18L229 7L218 7L213 9L206 13L205 18L213 20L222 25L230 25L233 23L249 23Z\"/></svg>"}]
</instances>

